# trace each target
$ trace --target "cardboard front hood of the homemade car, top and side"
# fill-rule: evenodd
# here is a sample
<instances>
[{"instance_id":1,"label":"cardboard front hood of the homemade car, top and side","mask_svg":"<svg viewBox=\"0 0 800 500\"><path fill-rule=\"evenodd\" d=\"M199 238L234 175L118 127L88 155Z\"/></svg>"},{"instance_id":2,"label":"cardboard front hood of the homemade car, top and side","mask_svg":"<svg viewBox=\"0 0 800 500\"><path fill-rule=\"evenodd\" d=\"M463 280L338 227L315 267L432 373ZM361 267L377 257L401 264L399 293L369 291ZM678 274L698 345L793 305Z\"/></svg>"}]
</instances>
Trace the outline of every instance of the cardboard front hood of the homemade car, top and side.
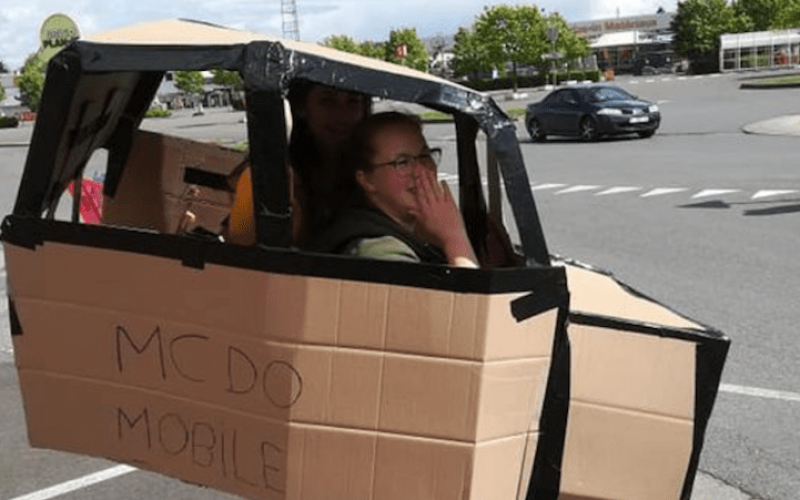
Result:
<instances>
[{"instance_id":1,"label":"cardboard front hood of the homemade car, top and side","mask_svg":"<svg viewBox=\"0 0 800 500\"><path fill-rule=\"evenodd\" d=\"M607 273L566 271L575 313L559 500L687 499L707 419L706 329Z\"/></svg>"}]
</instances>

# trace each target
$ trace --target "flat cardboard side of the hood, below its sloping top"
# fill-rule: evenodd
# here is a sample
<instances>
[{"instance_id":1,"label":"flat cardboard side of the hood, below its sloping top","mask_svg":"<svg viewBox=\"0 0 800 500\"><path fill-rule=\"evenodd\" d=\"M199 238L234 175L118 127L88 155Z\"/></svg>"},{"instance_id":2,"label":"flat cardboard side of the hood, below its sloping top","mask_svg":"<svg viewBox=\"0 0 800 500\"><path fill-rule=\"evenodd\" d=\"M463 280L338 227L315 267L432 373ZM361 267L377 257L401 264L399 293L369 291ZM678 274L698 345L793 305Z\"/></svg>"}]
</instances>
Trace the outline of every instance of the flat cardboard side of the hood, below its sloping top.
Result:
<instances>
[{"instance_id":1,"label":"flat cardboard side of the hood, below its sloping top","mask_svg":"<svg viewBox=\"0 0 800 500\"><path fill-rule=\"evenodd\" d=\"M693 451L694 343L576 324L568 331L561 491L678 500Z\"/></svg>"}]
</instances>

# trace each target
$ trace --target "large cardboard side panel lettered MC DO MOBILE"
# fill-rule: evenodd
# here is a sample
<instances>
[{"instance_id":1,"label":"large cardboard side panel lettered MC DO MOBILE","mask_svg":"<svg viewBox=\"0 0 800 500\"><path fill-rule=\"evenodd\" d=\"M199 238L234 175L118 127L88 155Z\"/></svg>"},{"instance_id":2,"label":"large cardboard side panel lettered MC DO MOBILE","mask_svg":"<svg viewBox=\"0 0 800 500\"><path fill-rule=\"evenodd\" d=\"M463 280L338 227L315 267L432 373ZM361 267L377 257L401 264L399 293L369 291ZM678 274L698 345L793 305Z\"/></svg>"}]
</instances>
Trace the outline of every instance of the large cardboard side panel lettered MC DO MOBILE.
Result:
<instances>
[{"instance_id":1,"label":"large cardboard side panel lettered MC DO MOBILE","mask_svg":"<svg viewBox=\"0 0 800 500\"><path fill-rule=\"evenodd\" d=\"M520 292L200 270L55 242L4 249L35 446L251 498L527 487L556 311L518 322Z\"/></svg>"}]
</instances>

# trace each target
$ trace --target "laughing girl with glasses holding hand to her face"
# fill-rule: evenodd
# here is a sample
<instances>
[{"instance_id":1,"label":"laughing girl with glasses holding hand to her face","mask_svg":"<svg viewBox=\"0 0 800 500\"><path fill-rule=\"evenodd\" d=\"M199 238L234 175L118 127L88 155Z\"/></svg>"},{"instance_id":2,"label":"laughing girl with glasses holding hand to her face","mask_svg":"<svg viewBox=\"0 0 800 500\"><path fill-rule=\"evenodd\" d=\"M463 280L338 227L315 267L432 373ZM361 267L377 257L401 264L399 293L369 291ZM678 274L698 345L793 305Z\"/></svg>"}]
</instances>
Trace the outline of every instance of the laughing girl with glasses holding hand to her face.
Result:
<instances>
[{"instance_id":1,"label":"laughing girl with glasses holding hand to her face","mask_svg":"<svg viewBox=\"0 0 800 500\"><path fill-rule=\"evenodd\" d=\"M437 182L440 156L414 116L388 112L364 119L353 131L346 162L349 206L312 238L309 249L477 267L450 189Z\"/></svg>"}]
</instances>

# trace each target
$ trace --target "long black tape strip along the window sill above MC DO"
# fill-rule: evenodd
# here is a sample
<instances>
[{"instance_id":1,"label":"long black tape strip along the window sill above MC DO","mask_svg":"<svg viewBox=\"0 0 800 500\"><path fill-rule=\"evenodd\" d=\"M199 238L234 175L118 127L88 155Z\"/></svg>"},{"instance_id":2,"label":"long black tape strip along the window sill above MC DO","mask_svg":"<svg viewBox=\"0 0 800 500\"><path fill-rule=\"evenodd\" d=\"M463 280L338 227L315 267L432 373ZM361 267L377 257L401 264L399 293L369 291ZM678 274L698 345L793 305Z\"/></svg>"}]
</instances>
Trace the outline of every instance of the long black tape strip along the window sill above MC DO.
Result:
<instances>
[{"instance_id":1,"label":"long black tape strip along the window sill above MC DO","mask_svg":"<svg viewBox=\"0 0 800 500\"><path fill-rule=\"evenodd\" d=\"M190 258L187 242L194 235L157 234L124 228L72 224L27 217L9 216L12 231L2 239L13 242L22 232L34 232L40 243L58 242L93 249L110 249L141 255L152 255L186 262L199 268L200 257ZM563 267L516 267L499 269L467 269L416 262L392 262L345 255L315 254L296 249L265 246L242 247L203 239L202 262L237 269L304 275L319 278L345 279L366 283L412 286L460 293L530 293L532 289L550 286L558 289L566 283ZM545 285L547 284L547 285ZM563 285L564 288L566 285Z\"/></svg>"}]
</instances>

